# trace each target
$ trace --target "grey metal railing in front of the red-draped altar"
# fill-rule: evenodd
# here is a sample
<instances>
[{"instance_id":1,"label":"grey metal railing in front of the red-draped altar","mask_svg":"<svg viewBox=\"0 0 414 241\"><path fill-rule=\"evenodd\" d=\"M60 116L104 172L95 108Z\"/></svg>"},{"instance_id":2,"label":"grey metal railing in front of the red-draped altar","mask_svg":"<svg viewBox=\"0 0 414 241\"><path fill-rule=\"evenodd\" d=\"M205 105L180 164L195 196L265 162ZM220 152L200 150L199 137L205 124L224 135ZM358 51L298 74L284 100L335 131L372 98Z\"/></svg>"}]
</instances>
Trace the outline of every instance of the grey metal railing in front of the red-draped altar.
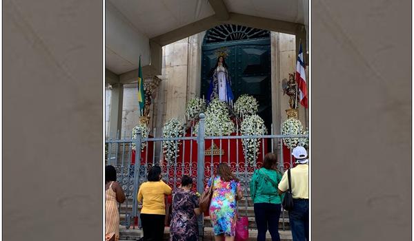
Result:
<instances>
[{"instance_id":1,"label":"grey metal railing in front of the red-draped altar","mask_svg":"<svg viewBox=\"0 0 414 241\"><path fill-rule=\"evenodd\" d=\"M250 179L253 176L253 171L262 167L265 154L279 152L277 155L279 169L284 171L284 169L293 166L293 160L290 150L290 163L286 164L283 161L283 138L308 138L308 135L276 135L273 134L273 128L271 128L270 134L259 136L205 136L204 121L204 114L201 114L197 136L193 136L193 127L190 127L190 134L186 134L184 130L182 137L177 138L142 138L141 133L138 133L137 138L134 139L106 140L106 165L113 165L117 169L117 181L126 194L126 202L119 205L121 225L124 225L126 229L139 227L137 192L139 185L146 181L148 169L152 165L161 166L162 179L173 189L180 184L181 176L188 175L193 178L197 191L202 193L215 167L222 162L228 163L244 191L244 200L237 203L239 213L242 213L244 207L244 214L248 216L248 207L253 206L253 200L249 201ZM239 127L237 127L237 133L238 131ZM252 138L257 140L259 148L256 149L257 153L253 154L255 158L248 160L246 150L243 148L243 140ZM175 142L173 163L164 161L162 143L165 141ZM142 151L134 151L132 143L135 143L136 150L140 150L142 145L145 148ZM206 148L206 146L210 147ZM226 153L223 149L226 149ZM158 158L157 152L159 152ZM134 155L135 158L132 158ZM281 218L281 228L284 230L286 218L284 213ZM199 217L199 232L204 233L204 218L202 216Z\"/></svg>"}]
</instances>

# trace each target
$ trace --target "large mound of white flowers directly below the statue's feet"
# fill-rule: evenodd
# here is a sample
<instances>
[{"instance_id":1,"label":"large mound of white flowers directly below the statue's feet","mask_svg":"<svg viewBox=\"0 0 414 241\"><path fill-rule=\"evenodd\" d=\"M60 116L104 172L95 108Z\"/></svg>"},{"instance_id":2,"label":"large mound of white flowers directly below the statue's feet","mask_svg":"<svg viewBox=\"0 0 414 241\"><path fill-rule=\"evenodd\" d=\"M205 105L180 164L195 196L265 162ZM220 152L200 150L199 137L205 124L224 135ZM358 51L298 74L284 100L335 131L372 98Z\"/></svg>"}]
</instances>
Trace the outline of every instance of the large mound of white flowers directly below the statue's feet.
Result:
<instances>
[{"instance_id":1,"label":"large mound of white flowers directly below the statue's feet","mask_svg":"<svg viewBox=\"0 0 414 241\"><path fill-rule=\"evenodd\" d=\"M206 110L206 136L228 136L235 132L235 125L230 120L228 108L218 98L213 99ZM197 136L199 123L193 129Z\"/></svg>"}]
</instances>

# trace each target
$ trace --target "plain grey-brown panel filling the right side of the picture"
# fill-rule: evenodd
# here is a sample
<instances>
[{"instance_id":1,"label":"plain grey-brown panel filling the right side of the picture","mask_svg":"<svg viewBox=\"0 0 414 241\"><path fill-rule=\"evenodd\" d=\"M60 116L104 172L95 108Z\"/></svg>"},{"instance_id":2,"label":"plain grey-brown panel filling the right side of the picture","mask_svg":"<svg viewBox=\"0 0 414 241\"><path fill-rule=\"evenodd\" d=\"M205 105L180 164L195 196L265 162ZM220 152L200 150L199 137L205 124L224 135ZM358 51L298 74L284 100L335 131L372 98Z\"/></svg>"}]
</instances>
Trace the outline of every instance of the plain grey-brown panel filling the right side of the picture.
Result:
<instances>
[{"instance_id":1,"label":"plain grey-brown panel filling the right side of the picture","mask_svg":"<svg viewBox=\"0 0 414 241\"><path fill-rule=\"evenodd\" d=\"M411 1L312 7L312 238L411 240Z\"/></svg>"}]
</instances>

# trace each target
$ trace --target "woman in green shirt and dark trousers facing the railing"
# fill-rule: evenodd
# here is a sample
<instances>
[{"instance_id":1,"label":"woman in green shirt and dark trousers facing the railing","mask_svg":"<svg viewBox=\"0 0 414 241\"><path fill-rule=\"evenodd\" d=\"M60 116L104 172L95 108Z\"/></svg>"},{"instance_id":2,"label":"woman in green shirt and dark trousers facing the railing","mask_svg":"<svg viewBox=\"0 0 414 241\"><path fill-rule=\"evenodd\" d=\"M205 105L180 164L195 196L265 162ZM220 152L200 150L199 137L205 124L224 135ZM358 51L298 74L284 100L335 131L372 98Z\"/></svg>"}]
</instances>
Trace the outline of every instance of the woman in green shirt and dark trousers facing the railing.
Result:
<instances>
[{"instance_id":1,"label":"woman in green shirt and dark trousers facing the railing","mask_svg":"<svg viewBox=\"0 0 414 241\"><path fill-rule=\"evenodd\" d=\"M272 241L279 241L279 216L282 209L282 196L277 192L277 185L282 180L282 173L277 170L277 157L273 153L264 156L263 167L257 169L250 180L250 196L255 205L257 240L266 240L269 229Z\"/></svg>"}]
</instances>

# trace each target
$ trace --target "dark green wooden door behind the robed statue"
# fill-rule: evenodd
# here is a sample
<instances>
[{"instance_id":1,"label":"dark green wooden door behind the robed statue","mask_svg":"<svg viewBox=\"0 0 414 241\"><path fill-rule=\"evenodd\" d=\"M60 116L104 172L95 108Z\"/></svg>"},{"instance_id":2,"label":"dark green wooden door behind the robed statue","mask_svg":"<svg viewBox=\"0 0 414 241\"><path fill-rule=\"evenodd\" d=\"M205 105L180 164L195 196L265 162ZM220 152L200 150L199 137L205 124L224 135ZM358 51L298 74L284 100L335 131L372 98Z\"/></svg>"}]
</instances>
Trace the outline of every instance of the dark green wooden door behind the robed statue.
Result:
<instances>
[{"instance_id":1,"label":"dark green wooden door behind the robed statue","mask_svg":"<svg viewBox=\"0 0 414 241\"><path fill-rule=\"evenodd\" d=\"M201 96L206 96L210 79L208 74L215 66L215 52L226 47L226 63L235 100L242 94L254 96L259 102L259 116L270 131L272 99L270 88L270 38L226 41L202 45Z\"/></svg>"}]
</instances>

